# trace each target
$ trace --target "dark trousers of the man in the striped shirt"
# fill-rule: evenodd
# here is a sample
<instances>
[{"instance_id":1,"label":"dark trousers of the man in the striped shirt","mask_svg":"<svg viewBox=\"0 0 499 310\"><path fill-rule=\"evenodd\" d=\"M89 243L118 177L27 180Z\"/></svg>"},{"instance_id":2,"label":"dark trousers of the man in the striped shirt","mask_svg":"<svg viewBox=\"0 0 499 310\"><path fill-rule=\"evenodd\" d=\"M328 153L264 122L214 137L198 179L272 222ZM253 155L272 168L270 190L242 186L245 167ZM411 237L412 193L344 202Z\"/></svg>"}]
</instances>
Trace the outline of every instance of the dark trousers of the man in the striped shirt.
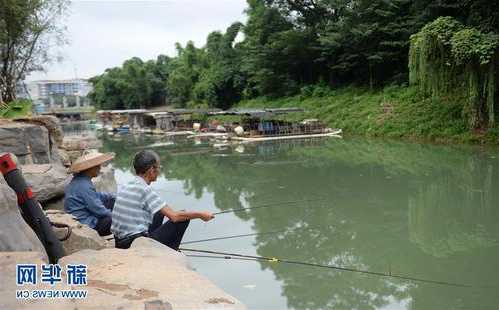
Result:
<instances>
[{"instance_id":1,"label":"dark trousers of the man in the striped shirt","mask_svg":"<svg viewBox=\"0 0 499 310\"><path fill-rule=\"evenodd\" d=\"M116 247L120 249L128 249L133 240L136 238L149 237L161 242L167 247L178 250L180 242L182 242L182 237L187 230L187 226L189 226L189 221L187 220L177 223L167 221L163 223L164 218L165 216L161 213L161 211L156 212L151 225L149 225L149 231L135 234L127 238L117 239L115 240Z\"/></svg>"}]
</instances>

